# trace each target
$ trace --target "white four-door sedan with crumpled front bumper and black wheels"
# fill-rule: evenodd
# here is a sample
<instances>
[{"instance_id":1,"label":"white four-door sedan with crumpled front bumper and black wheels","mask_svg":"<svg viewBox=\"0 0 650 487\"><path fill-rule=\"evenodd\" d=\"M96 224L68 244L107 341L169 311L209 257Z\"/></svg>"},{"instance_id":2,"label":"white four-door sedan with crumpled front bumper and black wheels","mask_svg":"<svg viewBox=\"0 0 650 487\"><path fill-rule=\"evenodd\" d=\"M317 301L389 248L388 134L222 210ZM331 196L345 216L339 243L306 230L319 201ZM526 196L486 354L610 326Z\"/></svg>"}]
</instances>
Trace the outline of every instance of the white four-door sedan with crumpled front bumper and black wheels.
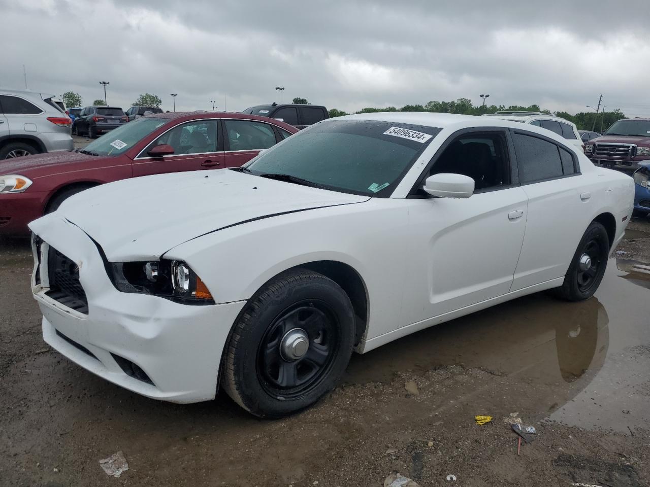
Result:
<instances>
[{"instance_id":1,"label":"white four-door sedan with crumpled front bumper and black wheels","mask_svg":"<svg viewBox=\"0 0 650 487\"><path fill-rule=\"evenodd\" d=\"M345 116L242 168L71 197L30 225L32 290L45 342L108 381L176 403L222 386L279 417L353 350L551 288L588 299L633 198L532 125Z\"/></svg>"}]
</instances>

